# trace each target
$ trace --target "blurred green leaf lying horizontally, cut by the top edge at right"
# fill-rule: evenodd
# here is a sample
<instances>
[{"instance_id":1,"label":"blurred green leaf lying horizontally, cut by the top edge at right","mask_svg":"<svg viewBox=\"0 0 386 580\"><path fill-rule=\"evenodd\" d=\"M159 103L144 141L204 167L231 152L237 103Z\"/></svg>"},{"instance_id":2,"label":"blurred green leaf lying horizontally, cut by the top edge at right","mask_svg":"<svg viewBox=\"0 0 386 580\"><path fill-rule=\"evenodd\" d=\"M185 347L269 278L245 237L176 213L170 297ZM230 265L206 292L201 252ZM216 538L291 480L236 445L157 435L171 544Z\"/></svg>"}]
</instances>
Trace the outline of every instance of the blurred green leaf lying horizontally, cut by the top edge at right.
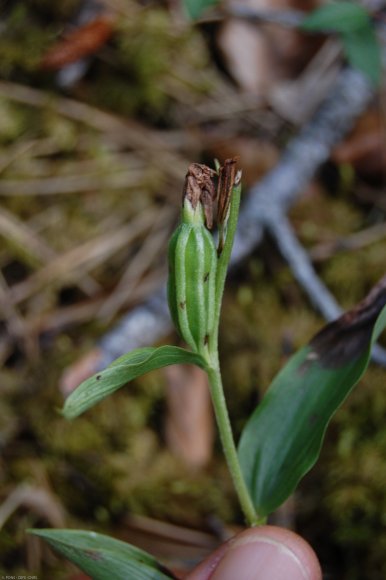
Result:
<instances>
[{"instance_id":1,"label":"blurred green leaf lying horizontally, cut by the top edge at right","mask_svg":"<svg viewBox=\"0 0 386 580\"><path fill-rule=\"evenodd\" d=\"M330 2L311 12L303 20L301 28L309 31L350 33L370 24L368 12L359 4Z\"/></svg>"}]
</instances>

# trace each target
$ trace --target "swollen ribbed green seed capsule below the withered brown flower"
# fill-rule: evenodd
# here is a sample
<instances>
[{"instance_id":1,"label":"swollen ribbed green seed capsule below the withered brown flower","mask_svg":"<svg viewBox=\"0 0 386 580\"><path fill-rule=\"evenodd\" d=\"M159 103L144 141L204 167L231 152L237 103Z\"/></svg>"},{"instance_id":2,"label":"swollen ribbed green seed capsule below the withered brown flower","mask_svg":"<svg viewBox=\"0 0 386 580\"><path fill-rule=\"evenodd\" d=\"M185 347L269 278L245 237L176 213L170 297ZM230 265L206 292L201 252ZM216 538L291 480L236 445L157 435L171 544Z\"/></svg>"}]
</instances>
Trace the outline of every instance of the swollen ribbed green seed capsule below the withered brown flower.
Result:
<instances>
[{"instance_id":1,"label":"swollen ribbed green seed capsule below the withered brown flower","mask_svg":"<svg viewBox=\"0 0 386 580\"><path fill-rule=\"evenodd\" d=\"M206 227L182 223L169 243L169 309L181 336L203 355L214 327L216 266L216 248Z\"/></svg>"}]
</instances>

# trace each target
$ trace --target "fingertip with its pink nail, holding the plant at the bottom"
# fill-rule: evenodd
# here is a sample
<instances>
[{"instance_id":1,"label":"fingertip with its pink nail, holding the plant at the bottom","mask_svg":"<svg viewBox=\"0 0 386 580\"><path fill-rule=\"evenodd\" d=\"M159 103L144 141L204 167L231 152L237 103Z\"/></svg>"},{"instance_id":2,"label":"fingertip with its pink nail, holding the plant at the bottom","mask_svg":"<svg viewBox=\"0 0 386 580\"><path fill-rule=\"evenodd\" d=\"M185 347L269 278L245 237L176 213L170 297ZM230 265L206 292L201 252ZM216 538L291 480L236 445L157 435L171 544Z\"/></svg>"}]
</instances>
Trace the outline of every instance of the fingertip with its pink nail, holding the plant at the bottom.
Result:
<instances>
[{"instance_id":1,"label":"fingertip with its pink nail, holding the plant at the bottom","mask_svg":"<svg viewBox=\"0 0 386 580\"><path fill-rule=\"evenodd\" d=\"M248 559L264 561L272 550L280 551L281 557L284 553L288 564L298 567L299 580L322 580L320 564L311 546L294 532L276 526L244 530L201 562L186 580L221 580L232 575L233 569L237 570L238 580L244 580L242 574L244 571L247 574ZM245 577L256 580L269 578L264 576L265 572L260 573L258 566L255 570L253 575Z\"/></svg>"}]
</instances>

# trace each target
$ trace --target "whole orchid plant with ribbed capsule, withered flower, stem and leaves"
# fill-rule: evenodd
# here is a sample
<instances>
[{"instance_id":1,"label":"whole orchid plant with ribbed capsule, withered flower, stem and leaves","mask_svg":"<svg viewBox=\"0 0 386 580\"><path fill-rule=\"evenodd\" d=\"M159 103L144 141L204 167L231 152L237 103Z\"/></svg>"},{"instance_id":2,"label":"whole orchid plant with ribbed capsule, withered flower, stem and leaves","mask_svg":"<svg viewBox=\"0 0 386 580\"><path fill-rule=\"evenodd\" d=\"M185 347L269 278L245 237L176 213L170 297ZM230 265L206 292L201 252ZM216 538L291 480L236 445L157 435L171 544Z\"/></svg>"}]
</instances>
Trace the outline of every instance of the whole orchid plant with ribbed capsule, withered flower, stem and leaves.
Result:
<instances>
[{"instance_id":1,"label":"whole orchid plant with ribbed capsule, withered flower, stem and leaves","mask_svg":"<svg viewBox=\"0 0 386 580\"><path fill-rule=\"evenodd\" d=\"M215 169L198 163L189 167L181 221L168 251L169 309L189 348L145 347L121 356L71 393L63 415L74 419L149 371L180 363L199 366L209 379L225 459L245 522L256 526L265 523L315 464L332 415L367 368L372 345L386 326L386 276L360 304L290 358L246 422L236 446L222 387L218 332L240 195L236 158L222 166L217 163ZM107 536L78 530L31 533L95 580L174 577L151 555Z\"/></svg>"}]
</instances>

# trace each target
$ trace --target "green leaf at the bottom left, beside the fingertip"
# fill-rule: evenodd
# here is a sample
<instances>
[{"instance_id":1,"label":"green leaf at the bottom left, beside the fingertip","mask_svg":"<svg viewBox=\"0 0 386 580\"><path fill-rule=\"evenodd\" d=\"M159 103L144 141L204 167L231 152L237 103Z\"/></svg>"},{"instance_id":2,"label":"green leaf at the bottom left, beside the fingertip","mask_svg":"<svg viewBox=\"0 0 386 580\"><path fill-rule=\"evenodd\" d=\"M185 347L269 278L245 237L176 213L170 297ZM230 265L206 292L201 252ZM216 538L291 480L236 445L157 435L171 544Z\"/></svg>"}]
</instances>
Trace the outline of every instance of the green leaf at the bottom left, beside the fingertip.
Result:
<instances>
[{"instance_id":1,"label":"green leaf at the bottom left, beside the fingertip","mask_svg":"<svg viewBox=\"0 0 386 580\"><path fill-rule=\"evenodd\" d=\"M153 556L109 536L83 530L28 530L79 566L93 580L166 580L173 574Z\"/></svg>"}]
</instances>

